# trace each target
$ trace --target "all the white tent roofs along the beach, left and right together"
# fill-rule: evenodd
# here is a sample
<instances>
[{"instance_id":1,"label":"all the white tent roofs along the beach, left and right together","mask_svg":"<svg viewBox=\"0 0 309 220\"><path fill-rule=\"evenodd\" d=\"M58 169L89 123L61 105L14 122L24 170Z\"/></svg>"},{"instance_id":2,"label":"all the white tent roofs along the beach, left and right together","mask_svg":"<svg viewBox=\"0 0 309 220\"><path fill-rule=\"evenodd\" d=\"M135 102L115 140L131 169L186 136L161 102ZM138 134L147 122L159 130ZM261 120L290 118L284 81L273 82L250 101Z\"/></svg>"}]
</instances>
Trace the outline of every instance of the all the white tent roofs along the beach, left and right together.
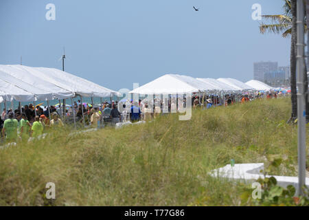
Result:
<instances>
[{"instance_id":1,"label":"all the white tent roofs along the beach, left and right together","mask_svg":"<svg viewBox=\"0 0 309 220\"><path fill-rule=\"evenodd\" d=\"M242 83L233 78L193 78L179 74L165 74L130 94L188 94L200 91L269 91L272 87L257 80ZM81 97L121 96L89 80L59 69L0 65L0 102L35 102Z\"/></svg>"}]
</instances>

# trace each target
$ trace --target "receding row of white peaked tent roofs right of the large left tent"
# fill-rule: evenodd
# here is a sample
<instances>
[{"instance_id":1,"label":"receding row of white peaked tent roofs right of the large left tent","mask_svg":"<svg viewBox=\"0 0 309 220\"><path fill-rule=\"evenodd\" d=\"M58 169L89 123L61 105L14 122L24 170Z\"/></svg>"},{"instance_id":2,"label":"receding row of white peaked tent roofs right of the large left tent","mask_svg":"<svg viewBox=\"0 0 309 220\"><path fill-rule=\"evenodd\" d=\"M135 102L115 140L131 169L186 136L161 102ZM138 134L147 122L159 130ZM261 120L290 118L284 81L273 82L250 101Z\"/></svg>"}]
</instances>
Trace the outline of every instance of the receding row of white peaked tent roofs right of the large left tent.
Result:
<instances>
[{"instance_id":1,"label":"receding row of white peaked tent roofs right of the large left tent","mask_svg":"<svg viewBox=\"0 0 309 220\"><path fill-rule=\"evenodd\" d=\"M193 78L179 74L165 74L150 83L130 91L130 94L190 94L198 92L224 91L271 91L273 87L258 80L242 83L233 78Z\"/></svg>"}]
</instances>

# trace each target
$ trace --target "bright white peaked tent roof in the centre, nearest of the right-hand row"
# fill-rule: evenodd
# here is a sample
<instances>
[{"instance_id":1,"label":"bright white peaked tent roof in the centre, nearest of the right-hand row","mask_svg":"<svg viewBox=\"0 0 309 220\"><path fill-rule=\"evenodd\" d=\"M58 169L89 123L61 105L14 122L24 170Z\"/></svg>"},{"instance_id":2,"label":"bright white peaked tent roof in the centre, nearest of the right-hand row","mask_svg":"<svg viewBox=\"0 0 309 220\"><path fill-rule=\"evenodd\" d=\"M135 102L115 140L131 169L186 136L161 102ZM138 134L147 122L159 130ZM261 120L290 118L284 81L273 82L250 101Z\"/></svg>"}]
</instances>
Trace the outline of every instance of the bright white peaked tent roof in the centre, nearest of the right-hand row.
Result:
<instances>
[{"instance_id":1,"label":"bright white peaked tent roof in the centre, nearest of the right-hand row","mask_svg":"<svg viewBox=\"0 0 309 220\"><path fill-rule=\"evenodd\" d=\"M193 85L190 85L175 74L166 74L161 76L150 83L142 85L133 91L130 91L130 94L189 94L201 91L201 88L196 88Z\"/></svg>"}]
</instances>

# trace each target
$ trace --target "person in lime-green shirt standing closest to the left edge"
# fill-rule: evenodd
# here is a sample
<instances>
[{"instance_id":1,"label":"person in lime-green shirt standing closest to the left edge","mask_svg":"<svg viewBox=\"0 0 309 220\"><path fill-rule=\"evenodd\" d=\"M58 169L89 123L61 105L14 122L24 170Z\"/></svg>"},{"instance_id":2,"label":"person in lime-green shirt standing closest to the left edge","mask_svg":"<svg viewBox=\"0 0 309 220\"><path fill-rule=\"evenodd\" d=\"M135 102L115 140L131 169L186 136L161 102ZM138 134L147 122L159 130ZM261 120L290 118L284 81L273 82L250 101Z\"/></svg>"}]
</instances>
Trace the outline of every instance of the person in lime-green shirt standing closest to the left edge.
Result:
<instances>
[{"instance_id":1,"label":"person in lime-green shirt standing closest to the left edge","mask_svg":"<svg viewBox=\"0 0 309 220\"><path fill-rule=\"evenodd\" d=\"M8 113L8 119L4 121L2 129L2 137L5 137L7 142L16 142L17 140L17 129L19 122L13 118L14 113L12 111Z\"/></svg>"}]
</instances>

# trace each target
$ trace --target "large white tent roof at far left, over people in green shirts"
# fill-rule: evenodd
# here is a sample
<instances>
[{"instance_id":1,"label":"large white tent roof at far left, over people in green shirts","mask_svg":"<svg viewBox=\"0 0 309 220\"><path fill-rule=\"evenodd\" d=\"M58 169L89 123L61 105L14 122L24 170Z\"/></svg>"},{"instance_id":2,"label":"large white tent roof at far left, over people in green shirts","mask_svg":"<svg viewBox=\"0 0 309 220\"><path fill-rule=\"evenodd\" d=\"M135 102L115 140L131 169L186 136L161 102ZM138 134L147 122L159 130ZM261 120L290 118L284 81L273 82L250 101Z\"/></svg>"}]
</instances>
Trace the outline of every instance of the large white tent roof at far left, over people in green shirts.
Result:
<instances>
[{"instance_id":1,"label":"large white tent roof at far left, over people in green shirts","mask_svg":"<svg viewBox=\"0 0 309 220\"><path fill-rule=\"evenodd\" d=\"M28 102L30 94L32 101L65 99L76 95L87 97L121 95L117 91L106 89L73 74L53 68L0 65L0 79L17 88L18 94L14 93L14 89L9 88L8 85L0 87L0 91L5 94L5 100L12 98L17 100L16 98L18 98L18 101ZM24 91L25 96L20 96L20 91Z\"/></svg>"}]
</instances>

